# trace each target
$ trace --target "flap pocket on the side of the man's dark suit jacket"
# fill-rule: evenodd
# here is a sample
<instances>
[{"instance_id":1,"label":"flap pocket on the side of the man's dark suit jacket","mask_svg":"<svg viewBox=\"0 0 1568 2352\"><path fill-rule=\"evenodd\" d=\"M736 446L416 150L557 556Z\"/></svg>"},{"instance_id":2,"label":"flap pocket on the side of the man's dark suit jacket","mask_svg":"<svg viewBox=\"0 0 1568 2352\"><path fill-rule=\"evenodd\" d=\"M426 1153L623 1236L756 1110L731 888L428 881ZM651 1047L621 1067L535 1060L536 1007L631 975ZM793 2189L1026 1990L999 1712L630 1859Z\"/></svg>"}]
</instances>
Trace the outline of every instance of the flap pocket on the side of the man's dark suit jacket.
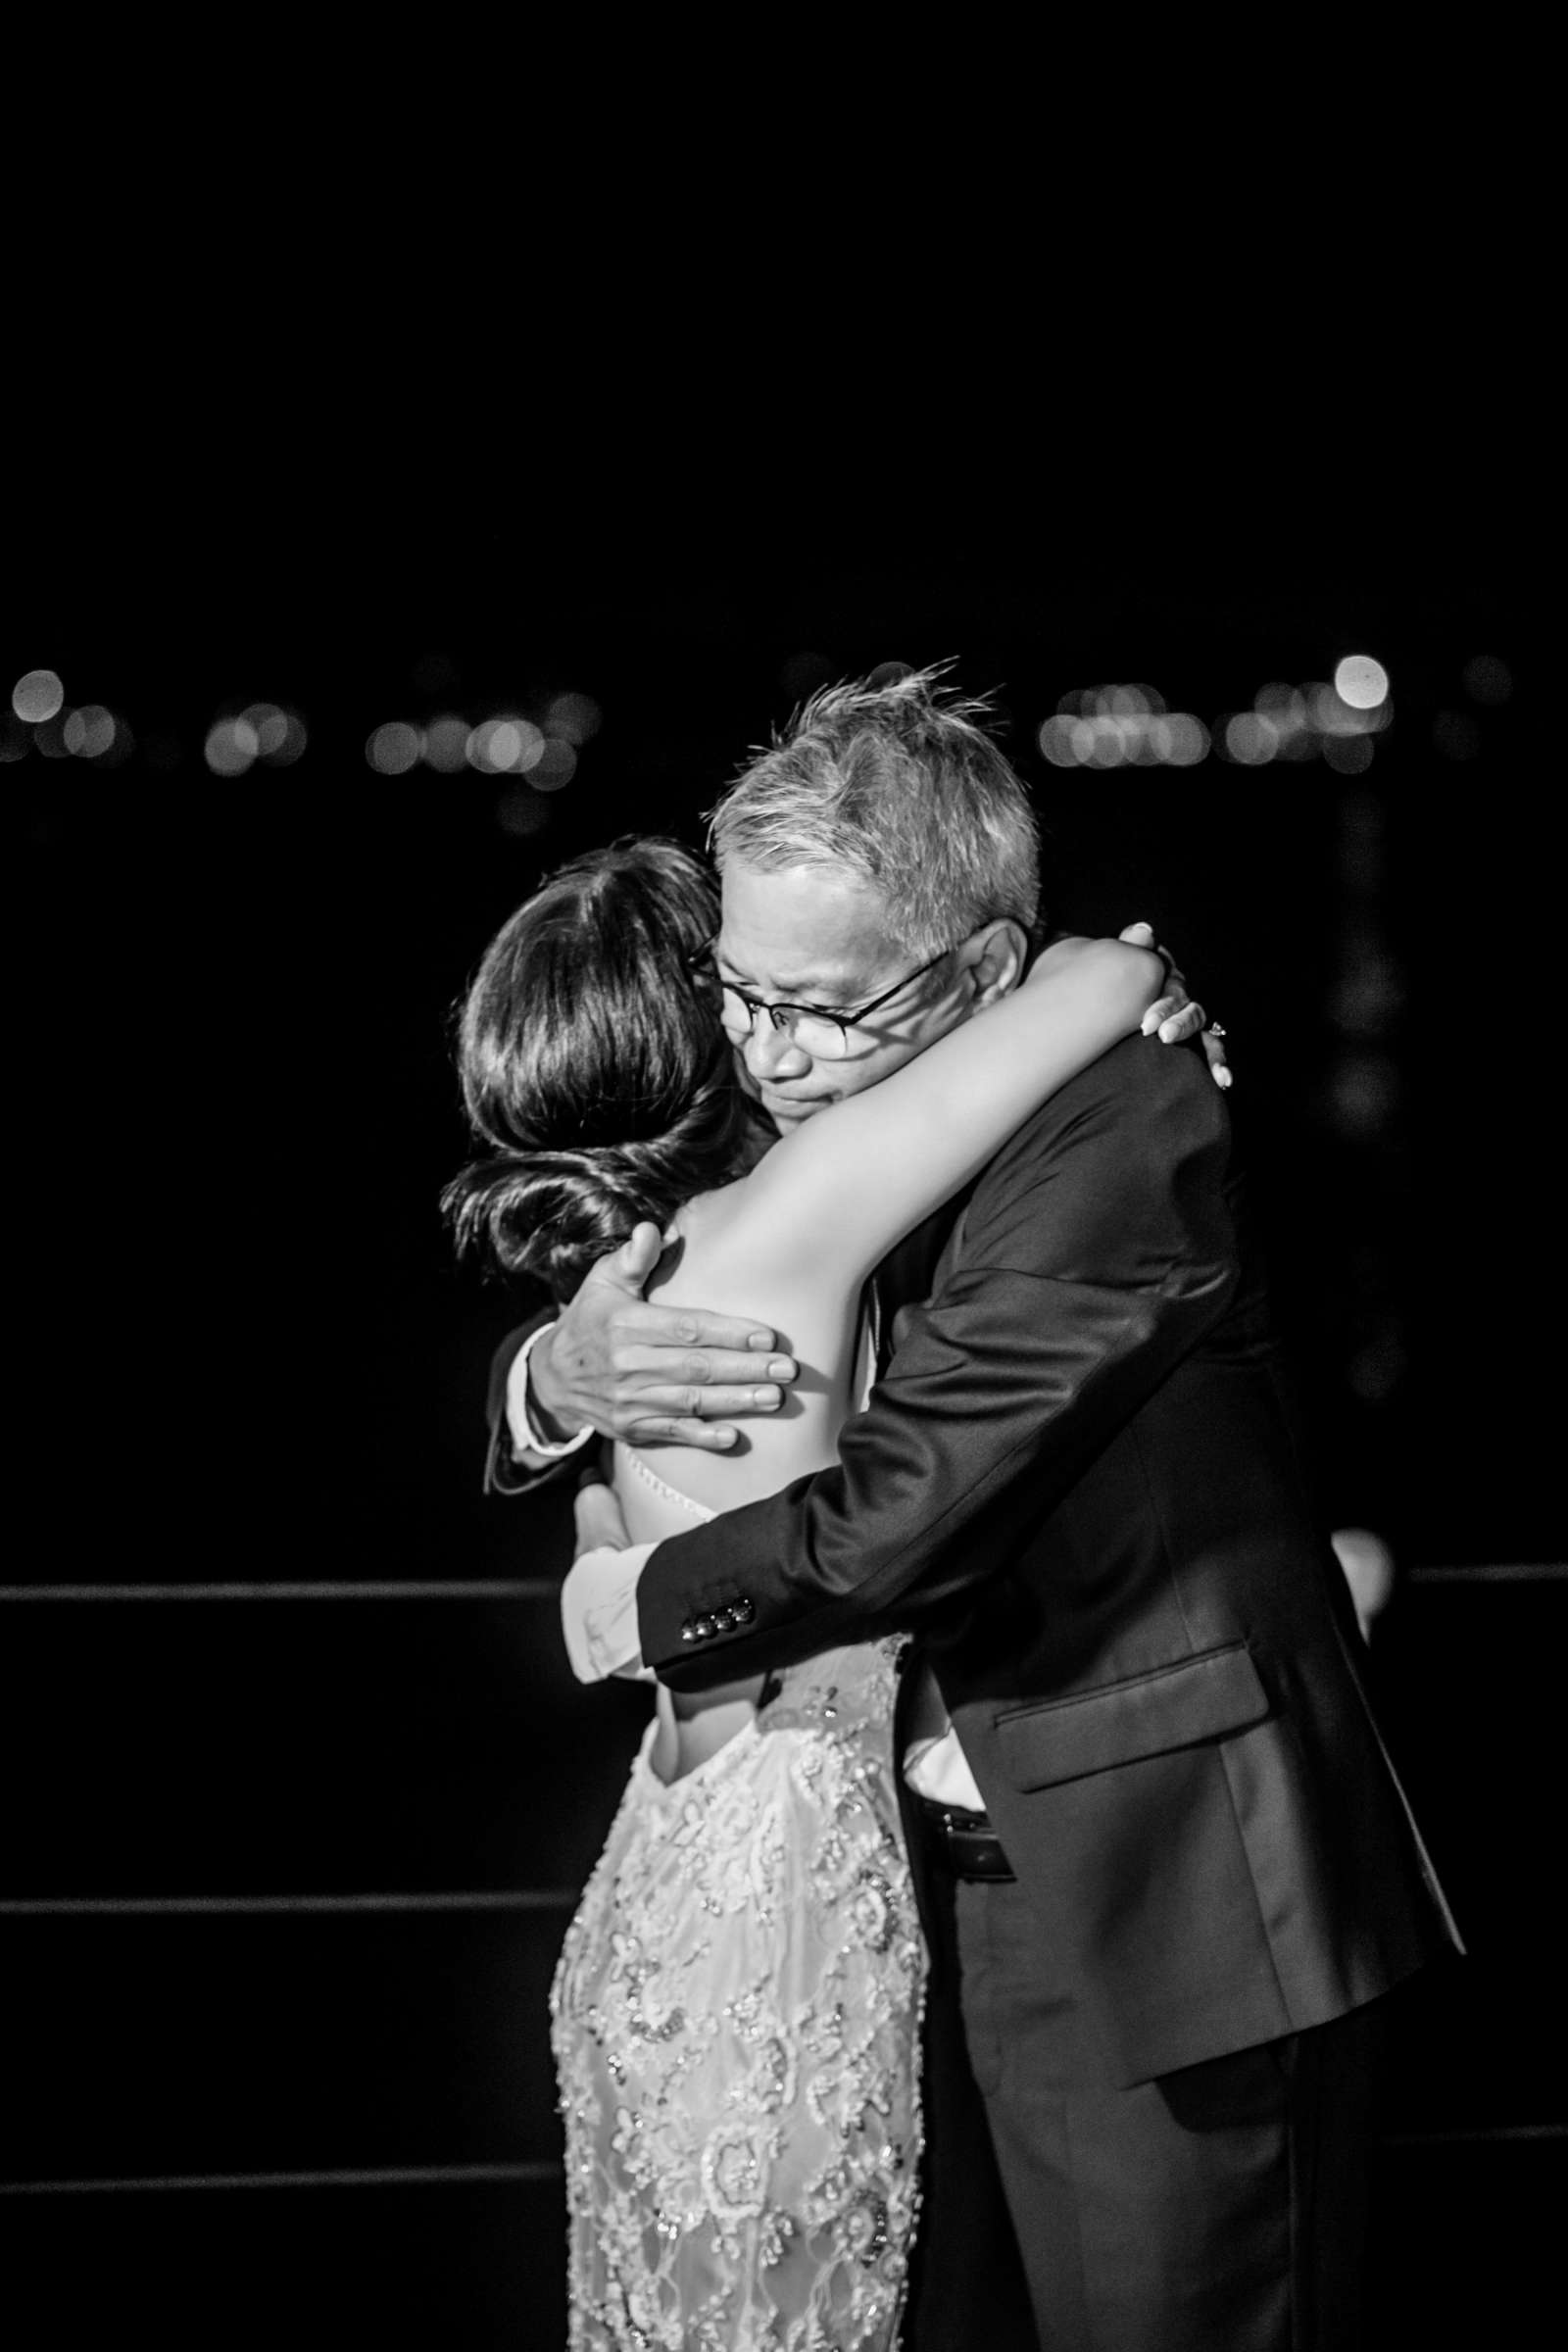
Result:
<instances>
[{"instance_id":1,"label":"flap pocket on the side of the man's dark suit jacket","mask_svg":"<svg viewBox=\"0 0 1568 2352\"><path fill-rule=\"evenodd\" d=\"M1267 1712L1246 1642L1227 1642L1100 1691L1009 1708L997 1715L997 1740L1013 1788L1053 1788L1138 1757L1220 1740Z\"/></svg>"}]
</instances>

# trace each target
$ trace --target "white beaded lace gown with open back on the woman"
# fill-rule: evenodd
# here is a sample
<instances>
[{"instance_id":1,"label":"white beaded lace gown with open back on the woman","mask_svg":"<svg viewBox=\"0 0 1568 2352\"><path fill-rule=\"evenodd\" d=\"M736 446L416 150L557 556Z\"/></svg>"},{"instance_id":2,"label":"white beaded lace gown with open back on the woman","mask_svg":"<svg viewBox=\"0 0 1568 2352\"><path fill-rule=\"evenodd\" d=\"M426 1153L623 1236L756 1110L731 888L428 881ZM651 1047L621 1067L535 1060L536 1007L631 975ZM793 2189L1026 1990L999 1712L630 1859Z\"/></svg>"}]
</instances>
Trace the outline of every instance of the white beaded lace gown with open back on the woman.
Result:
<instances>
[{"instance_id":1,"label":"white beaded lace gown with open back on the woman","mask_svg":"<svg viewBox=\"0 0 1568 2352\"><path fill-rule=\"evenodd\" d=\"M649 1724L550 1994L571 2352L898 2340L924 1945L896 1658L877 1642L790 1668L670 1785Z\"/></svg>"}]
</instances>

